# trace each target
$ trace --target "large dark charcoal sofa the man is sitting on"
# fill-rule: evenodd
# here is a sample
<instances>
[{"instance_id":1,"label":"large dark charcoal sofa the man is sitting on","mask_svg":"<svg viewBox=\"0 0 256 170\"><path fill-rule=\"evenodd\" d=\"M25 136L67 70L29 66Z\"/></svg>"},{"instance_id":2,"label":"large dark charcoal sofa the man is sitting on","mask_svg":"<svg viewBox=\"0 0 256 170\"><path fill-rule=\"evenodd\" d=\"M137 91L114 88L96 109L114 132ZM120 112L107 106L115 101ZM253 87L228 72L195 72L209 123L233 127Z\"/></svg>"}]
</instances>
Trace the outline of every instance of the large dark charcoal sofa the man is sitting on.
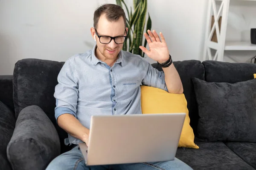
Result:
<instances>
[{"instance_id":1,"label":"large dark charcoal sofa the man is sitting on","mask_svg":"<svg viewBox=\"0 0 256 170\"><path fill-rule=\"evenodd\" d=\"M13 75L0 75L0 170L43 170L53 158L71 149L71 146L64 144L67 133L58 127L54 116L53 93L58 83L58 72L63 64L64 62L28 58L17 61ZM254 141L256 134L241 138L236 135L228 138L212 138L212 135L229 132L229 130L222 132L222 125L228 125L230 131L232 126L236 125L228 123L230 118L225 120L225 112L215 113L221 105L219 108L211 108L209 103L207 103L208 107L198 105L198 102L202 104L201 102L207 101L200 100L200 95L207 93L200 92L201 89L216 86L216 83L221 85L226 83L229 87L232 84L250 81L256 73L256 64L218 61L201 63L196 60L175 61L174 64L183 83L183 93L189 110L190 126L195 134L195 144L199 146L199 149L180 147L177 149L176 157L195 170L256 169L256 142ZM161 70L155 63L152 66ZM201 85L200 81L204 81L204 85ZM217 84L217 91L221 85ZM235 93L230 98L234 96L237 98ZM239 98L243 97L239 96ZM237 98L238 101L239 98ZM220 101L224 104L229 98L220 98L220 100L225 100ZM250 97L251 101L255 102L255 98ZM251 106L255 109L254 104ZM232 108L233 106L228 106L224 109L232 110ZM208 119L211 127L207 127L207 124L204 124L204 127L211 129L209 133L204 132L204 138L202 138L204 129L200 124L207 118L201 119L203 117L201 114L204 114L201 109L212 115L224 115L221 122L224 121L227 124L218 122L218 117L222 115L218 115L215 120ZM233 110L232 118L239 112L240 109ZM253 121L250 129L246 127L247 123L243 124L242 117L239 121L241 122L240 131L243 130L242 126L245 126L245 130L250 132L254 126L253 123L256 124L253 117L256 112L250 110L250 114ZM211 133L214 128L219 129L217 134Z\"/></svg>"}]
</instances>

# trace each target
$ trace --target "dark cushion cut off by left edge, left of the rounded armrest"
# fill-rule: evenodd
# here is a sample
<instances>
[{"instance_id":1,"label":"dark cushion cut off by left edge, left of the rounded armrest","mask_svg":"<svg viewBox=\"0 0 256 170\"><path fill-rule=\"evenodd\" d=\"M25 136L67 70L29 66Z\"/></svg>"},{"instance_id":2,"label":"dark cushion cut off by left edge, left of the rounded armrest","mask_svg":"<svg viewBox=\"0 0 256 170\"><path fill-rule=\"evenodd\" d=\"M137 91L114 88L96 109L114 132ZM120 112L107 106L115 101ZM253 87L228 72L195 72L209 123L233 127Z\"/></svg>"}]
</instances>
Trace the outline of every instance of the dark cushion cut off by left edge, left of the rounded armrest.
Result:
<instances>
[{"instance_id":1,"label":"dark cushion cut off by left edge, left of the rounded armrest","mask_svg":"<svg viewBox=\"0 0 256 170\"><path fill-rule=\"evenodd\" d=\"M0 101L0 169L11 170L7 159L6 148L15 128L14 113Z\"/></svg>"}]
</instances>

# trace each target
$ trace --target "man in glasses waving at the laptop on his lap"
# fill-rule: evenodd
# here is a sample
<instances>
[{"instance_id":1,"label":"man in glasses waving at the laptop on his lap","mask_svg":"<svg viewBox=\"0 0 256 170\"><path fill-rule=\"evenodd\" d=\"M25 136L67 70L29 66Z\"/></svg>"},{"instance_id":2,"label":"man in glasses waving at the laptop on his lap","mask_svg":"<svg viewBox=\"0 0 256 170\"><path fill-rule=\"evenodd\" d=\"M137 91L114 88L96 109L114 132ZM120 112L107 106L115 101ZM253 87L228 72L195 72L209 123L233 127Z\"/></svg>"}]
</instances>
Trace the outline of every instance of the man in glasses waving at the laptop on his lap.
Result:
<instances>
[{"instance_id":1,"label":"man in glasses waving at the laptop on his lap","mask_svg":"<svg viewBox=\"0 0 256 170\"><path fill-rule=\"evenodd\" d=\"M92 115L141 114L140 85L154 86L170 93L183 93L180 77L172 63L164 40L155 31L145 33L149 51L140 46L148 57L163 66L154 69L144 58L122 51L126 28L124 10L105 4L94 12L91 34L96 46L89 52L69 58L58 75L55 87L55 118L68 133L66 144L73 149L49 164L47 170L169 170L191 169L175 158L174 161L117 164L87 167L78 149L80 142L88 144Z\"/></svg>"}]
</instances>

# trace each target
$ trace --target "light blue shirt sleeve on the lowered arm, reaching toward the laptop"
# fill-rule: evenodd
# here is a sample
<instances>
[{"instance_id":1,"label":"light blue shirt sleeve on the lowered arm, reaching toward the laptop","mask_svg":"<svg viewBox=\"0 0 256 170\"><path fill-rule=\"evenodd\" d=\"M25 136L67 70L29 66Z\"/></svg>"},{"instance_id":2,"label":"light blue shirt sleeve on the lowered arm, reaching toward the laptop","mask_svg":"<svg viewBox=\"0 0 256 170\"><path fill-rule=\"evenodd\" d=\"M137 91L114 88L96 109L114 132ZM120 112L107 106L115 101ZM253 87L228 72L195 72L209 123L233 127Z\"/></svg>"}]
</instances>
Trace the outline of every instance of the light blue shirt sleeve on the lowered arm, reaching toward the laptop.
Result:
<instances>
[{"instance_id":1,"label":"light blue shirt sleeve on the lowered arm, reaching toward the laptop","mask_svg":"<svg viewBox=\"0 0 256 170\"><path fill-rule=\"evenodd\" d=\"M78 80L73 67L72 58L69 58L58 74L58 84L55 86L56 99L55 118L65 113L76 117L78 100Z\"/></svg>"}]
</instances>

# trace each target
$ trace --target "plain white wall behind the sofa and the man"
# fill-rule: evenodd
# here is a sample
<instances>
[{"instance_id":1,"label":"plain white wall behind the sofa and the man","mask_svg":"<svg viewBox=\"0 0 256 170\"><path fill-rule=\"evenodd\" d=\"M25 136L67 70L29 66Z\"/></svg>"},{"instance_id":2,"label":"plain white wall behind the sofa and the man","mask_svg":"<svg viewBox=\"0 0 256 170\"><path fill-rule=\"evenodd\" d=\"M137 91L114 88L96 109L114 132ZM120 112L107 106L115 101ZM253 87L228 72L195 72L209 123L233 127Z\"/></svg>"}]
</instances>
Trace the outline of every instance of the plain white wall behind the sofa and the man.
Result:
<instances>
[{"instance_id":1,"label":"plain white wall behind the sofa and the man","mask_svg":"<svg viewBox=\"0 0 256 170\"><path fill-rule=\"evenodd\" d=\"M0 75L23 58L66 61L91 49L94 10L115 2L0 0ZM152 29L163 32L174 61L201 60L206 9L207 0L148 0Z\"/></svg>"}]
</instances>

